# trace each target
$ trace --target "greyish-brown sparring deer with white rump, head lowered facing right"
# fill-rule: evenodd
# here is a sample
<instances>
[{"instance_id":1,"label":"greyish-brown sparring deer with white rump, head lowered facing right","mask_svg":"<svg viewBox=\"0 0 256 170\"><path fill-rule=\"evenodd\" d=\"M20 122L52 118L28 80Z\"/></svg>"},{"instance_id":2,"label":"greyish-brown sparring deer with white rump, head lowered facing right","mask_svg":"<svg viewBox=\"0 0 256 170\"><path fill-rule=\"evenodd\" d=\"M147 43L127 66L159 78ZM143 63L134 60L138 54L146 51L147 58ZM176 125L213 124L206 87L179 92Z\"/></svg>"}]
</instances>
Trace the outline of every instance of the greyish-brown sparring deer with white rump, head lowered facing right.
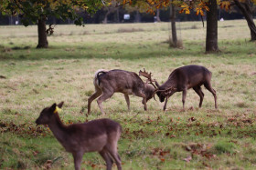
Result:
<instances>
[{"instance_id":1,"label":"greyish-brown sparring deer with white rump, head lowered facing right","mask_svg":"<svg viewBox=\"0 0 256 170\"><path fill-rule=\"evenodd\" d=\"M112 97L114 93L123 93L128 111L130 111L129 95L136 95L143 98L144 110L147 110L147 101L149 101L155 92L155 86L144 81L134 72L124 70L98 70L95 73L93 84L95 93L88 99L88 114L91 112L91 102L97 99L101 109L101 114L105 115L101 103Z\"/></svg>"}]
</instances>

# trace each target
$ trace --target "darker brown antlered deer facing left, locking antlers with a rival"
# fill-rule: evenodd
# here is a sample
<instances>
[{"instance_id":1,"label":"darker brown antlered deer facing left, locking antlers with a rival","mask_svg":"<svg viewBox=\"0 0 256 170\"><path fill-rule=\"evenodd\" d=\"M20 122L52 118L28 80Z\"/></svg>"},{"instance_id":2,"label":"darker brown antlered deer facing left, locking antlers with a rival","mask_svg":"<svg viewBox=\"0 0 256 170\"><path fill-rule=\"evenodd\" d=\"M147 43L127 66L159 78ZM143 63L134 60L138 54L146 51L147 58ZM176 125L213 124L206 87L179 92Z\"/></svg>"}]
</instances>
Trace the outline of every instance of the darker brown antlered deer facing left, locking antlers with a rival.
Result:
<instances>
[{"instance_id":1,"label":"darker brown antlered deer facing left, locking antlers with a rival","mask_svg":"<svg viewBox=\"0 0 256 170\"><path fill-rule=\"evenodd\" d=\"M183 110L185 110L185 101L187 96L187 90L193 88L194 91L199 95L200 102L199 108L202 106L204 93L202 92L201 85L204 85L208 91L214 96L215 108L217 105L217 95L216 91L211 86L211 76L212 73L204 66L201 65L186 65L176 68L168 77L163 85L159 85L157 81L152 80L151 74L144 71L144 77L150 84L156 85L155 94L158 95L161 103L165 101L164 111L166 110L166 105L168 98L174 95L176 92L182 92L182 103Z\"/></svg>"}]
</instances>

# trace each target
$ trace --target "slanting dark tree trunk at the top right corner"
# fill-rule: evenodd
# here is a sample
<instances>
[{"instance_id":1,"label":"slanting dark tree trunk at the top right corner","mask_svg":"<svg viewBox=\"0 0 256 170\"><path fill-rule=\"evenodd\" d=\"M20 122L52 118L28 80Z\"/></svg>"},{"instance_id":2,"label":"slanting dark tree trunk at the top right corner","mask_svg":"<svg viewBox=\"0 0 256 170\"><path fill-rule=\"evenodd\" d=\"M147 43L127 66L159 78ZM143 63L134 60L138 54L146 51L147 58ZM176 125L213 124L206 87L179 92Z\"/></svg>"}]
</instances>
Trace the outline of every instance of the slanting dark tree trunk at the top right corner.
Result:
<instances>
[{"instance_id":1,"label":"slanting dark tree trunk at the top right corner","mask_svg":"<svg viewBox=\"0 0 256 170\"><path fill-rule=\"evenodd\" d=\"M250 1L246 0L245 3L240 3L239 0L234 0L235 5L237 5L240 9L242 15L244 15L247 24L251 31L251 41L256 41L256 26L253 22L253 15L251 11Z\"/></svg>"}]
</instances>

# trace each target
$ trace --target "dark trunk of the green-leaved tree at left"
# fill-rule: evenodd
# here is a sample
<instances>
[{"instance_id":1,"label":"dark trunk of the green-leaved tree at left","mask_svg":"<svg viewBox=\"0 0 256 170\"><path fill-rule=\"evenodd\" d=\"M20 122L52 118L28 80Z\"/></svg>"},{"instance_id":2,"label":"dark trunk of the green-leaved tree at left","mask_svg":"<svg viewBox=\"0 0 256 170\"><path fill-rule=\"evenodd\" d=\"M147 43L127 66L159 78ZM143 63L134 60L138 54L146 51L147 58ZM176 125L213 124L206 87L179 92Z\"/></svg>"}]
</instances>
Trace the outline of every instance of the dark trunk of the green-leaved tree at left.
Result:
<instances>
[{"instance_id":1,"label":"dark trunk of the green-leaved tree at left","mask_svg":"<svg viewBox=\"0 0 256 170\"><path fill-rule=\"evenodd\" d=\"M42 16L38 19L37 32L38 32L38 45L37 48L48 48L48 36L46 32L46 17Z\"/></svg>"}]
</instances>

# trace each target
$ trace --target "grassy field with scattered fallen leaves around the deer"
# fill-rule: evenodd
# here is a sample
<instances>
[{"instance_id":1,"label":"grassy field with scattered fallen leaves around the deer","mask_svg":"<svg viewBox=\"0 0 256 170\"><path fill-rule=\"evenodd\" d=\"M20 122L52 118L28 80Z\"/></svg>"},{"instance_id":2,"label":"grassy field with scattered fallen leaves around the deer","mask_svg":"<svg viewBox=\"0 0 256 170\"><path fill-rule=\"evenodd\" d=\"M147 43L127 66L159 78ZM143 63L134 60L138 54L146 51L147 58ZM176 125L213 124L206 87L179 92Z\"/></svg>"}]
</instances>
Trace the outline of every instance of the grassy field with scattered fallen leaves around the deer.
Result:
<instances>
[{"instance_id":1,"label":"grassy field with scattered fallen leaves around the deer","mask_svg":"<svg viewBox=\"0 0 256 170\"><path fill-rule=\"evenodd\" d=\"M35 120L45 106L64 101L66 124L102 118L94 101L93 76L101 68L138 73L145 68L159 83L182 65L205 65L213 73L219 109L203 88L205 99L181 93L162 111L158 100L123 95L103 103L107 115L123 125L119 153L123 169L255 169L256 44L245 20L219 23L218 54L205 54L206 28L201 22L177 23L184 47L169 48L170 24L57 25L48 49L36 49L37 27L0 26L0 169L73 169L47 127ZM138 115L137 115L138 114ZM97 153L84 155L82 168L103 169ZM115 167L116 168L116 167Z\"/></svg>"}]
</instances>

